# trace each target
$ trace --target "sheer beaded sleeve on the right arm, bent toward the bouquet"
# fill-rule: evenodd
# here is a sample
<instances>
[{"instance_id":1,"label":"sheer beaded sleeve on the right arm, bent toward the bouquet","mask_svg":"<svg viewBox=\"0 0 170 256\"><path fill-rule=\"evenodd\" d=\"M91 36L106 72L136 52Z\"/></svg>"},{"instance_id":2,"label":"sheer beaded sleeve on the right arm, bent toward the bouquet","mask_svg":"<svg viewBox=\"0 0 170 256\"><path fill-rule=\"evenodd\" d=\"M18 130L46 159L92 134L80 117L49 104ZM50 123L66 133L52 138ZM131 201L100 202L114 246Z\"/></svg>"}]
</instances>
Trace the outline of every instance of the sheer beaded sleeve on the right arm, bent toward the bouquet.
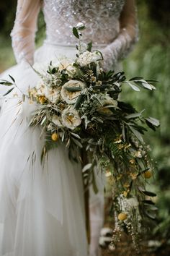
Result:
<instances>
[{"instance_id":1,"label":"sheer beaded sleeve on the right arm, bent toward the bouquet","mask_svg":"<svg viewBox=\"0 0 170 256\"><path fill-rule=\"evenodd\" d=\"M117 61L123 59L138 40L138 22L135 9L135 0L126 0L120 15L120 33L117 38L103 49L105 70L114 68Z\"/></svg>"}]
</instances>

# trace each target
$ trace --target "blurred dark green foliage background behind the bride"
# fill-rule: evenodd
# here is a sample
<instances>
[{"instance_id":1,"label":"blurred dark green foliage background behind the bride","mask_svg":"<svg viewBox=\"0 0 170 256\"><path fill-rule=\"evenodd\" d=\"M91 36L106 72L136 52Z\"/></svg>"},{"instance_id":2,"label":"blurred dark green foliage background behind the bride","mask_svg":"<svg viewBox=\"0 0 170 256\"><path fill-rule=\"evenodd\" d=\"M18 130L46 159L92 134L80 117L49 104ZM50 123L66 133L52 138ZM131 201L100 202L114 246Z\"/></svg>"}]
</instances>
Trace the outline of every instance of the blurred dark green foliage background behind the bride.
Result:
<instances>
[{"instance_id":1,"label":"blurred dark green foliage background behind the bride","mask_svg":"<svg viewBox=\"0 0 170 256\"><path fill-rule=\"evenodd\" d=\"M170 255L170 1L137 0L140 38L130 56L123 61L128 78L142 76L158 80L156 91L133 92L128 89L123 97L138 111L146 109L146 116L159 119L161 127L149 131L146 141L156 161L155 175L151 179L152 191L157 193L158 216L150 239L156 255ZM15 64L10 32L14 25L17 0L0 1L0 72ZM38 20L36 44L45 38L42 13ZM157 241L157 243L156 243ZM159 243L158 243L159 242Z\"/></svg>"}]
</instances>

